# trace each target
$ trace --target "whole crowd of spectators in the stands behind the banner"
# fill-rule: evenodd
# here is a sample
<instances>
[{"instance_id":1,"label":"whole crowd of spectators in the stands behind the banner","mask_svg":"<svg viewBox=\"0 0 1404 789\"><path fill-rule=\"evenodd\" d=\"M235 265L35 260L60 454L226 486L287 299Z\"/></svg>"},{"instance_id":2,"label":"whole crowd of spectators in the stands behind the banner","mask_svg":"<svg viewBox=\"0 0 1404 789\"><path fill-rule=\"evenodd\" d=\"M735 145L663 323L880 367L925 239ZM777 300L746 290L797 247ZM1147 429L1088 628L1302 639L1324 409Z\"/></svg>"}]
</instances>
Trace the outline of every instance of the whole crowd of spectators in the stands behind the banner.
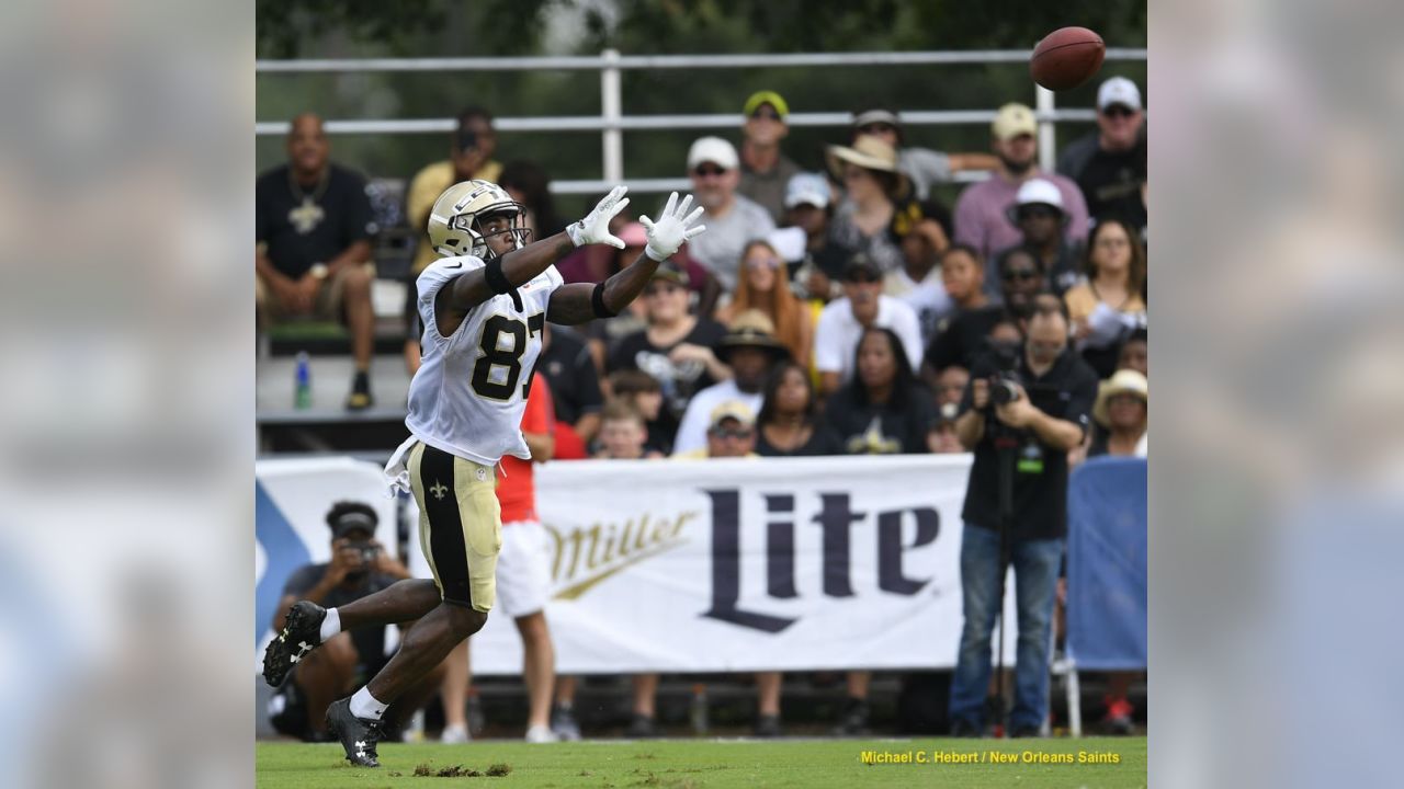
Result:
<instances>
[{"instance_id":1,"label":"whole crowd of spectators in the stands behind the banner","mask_svg":"<svg viewBox=\"0 0 1404 789\"><path fill-rule=\"evenodd\" d=\"M802 170L785 150L783 97L762 90L741 108L740 150L720 136L680 145L708 232L619 316L548 330L539 372L557 460L963 452L958 418L984 375L970 371L988 369L991 354L1016 354L1049 299L1066 317L1066 354L1102 382L1068 463L1146 455L1146 119L1134 83L1101 86L1098 129L1064 147L1056 173L1038 164L1039 121L1022 104L998 110L988 153L907 146L900 114L861 110L842 142L827 146L823 171ZM449 142L448 159L410 183L411 226L424 226L449 184L487 178L525 206L535 237L560 229L548 174L494 159L487 111L461 112ZM345 323L358 371L348 406L365 407L375 227L357 197L364 181L330 163L313 115L293 122L288 154L258 180L260 317ZM988 177L948 208L935 187L960 171ZM611 230L626 248L577 250L559 264L567 282L601 281L642 253L635 218L621 215ZM421 240L407 309L411 369L413 277L432 257ZM1122 723L1125 679L1108 702ZM966 701L983 694L981 681L970 674ZM636 685L635 712L649 719L640 733L654 684ZM779 678L758 684L769 730ZM862 675L849 678L849 730L862 730Z\"/></svg>"}]
</instances>

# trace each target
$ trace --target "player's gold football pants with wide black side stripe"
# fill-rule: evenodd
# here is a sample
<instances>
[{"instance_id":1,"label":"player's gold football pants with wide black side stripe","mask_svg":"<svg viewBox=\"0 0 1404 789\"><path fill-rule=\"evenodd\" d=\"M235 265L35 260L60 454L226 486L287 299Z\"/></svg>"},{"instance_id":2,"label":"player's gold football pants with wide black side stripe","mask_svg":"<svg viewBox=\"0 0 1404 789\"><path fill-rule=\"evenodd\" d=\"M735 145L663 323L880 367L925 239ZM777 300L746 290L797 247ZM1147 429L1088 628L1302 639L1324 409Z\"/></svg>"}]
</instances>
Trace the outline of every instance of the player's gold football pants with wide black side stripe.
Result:
<instances>
[{"instance_id":1,"label":"player's gold football pants with wide black side stripe","mask_svg":"<svg viewBox=\"0 0 1404 789\"><path fill-rule=\"evenodd\" d=\"M487 614L497 598L501 508L493 469L428 446L410 449L410 487L420 505L420 549L444 602Z\"/></svg>"}]
</instances>

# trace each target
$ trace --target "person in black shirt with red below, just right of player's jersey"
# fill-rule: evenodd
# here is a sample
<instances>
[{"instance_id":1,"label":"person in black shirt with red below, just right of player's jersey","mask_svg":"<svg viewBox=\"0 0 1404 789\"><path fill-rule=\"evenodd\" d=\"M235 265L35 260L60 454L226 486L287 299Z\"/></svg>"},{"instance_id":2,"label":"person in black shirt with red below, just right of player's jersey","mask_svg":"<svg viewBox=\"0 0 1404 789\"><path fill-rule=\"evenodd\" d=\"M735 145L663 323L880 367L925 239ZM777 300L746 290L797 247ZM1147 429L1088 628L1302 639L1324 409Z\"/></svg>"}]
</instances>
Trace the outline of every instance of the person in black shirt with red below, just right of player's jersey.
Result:
<instances>
[{"instance_id":1,"label":"person in black shirt with red below, just right of player's jersey","mask_svg":"<svg viewBox=\"0 0 1404 789\"><path fill-rule=\"evenodd\" d=\"M557 460L578 460L600 430L600 372L585 341L569 326L545 323L536 371L550 385Z\"/></svg>"}]
</instances>

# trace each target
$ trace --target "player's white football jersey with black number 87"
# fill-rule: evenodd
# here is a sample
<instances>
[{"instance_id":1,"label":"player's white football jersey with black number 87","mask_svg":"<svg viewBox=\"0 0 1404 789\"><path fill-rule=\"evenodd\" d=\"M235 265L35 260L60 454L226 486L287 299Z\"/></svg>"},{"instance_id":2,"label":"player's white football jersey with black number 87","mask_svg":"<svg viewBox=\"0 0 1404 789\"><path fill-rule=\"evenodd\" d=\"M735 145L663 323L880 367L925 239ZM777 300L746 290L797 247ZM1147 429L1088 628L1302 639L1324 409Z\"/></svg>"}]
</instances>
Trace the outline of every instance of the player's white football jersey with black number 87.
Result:
<instances>
[{"instance_id":1,"label":"player's white football jersey with black number 87","mask_svg":"<svg viewBox=\"0 0 1404 789\"><path fill-rule=\"evenodd\" d=\"M423 358L410 382L404 425L430 446L493 466L503 455L531 459L521 431L526 387L541 355L546 306L564 281L552 265L517 289L525 310L498 293L468 313L451 337L439 336L434 298L455 277L483 265L470 256L439 258L414 284Z\"/></svg>"}]
</instances>

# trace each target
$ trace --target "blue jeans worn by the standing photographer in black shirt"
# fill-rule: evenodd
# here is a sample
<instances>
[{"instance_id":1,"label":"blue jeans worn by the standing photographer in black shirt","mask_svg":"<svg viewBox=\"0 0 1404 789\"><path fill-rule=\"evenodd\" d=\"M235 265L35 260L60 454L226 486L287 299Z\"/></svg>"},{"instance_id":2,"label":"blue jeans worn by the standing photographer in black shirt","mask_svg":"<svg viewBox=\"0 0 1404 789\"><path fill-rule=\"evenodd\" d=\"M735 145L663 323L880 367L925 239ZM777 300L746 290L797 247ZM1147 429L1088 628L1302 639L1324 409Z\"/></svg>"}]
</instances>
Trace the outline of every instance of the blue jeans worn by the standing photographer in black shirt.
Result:
<instances>
[{"instance_id":1,"label":"blue jeans worn by the standing photographer in black shirt","mask_svg":"<svg viewBox=\"0 0 1404 789\"><path fill-rule=\"evenodd\" d=\"M1014 712L1009 729L1043 726L1047 717L1049 644L1057 570L1063 559L1061 539L1009 543L1014 564L1015 606L1019 618ZM965 628L960 654L951 677L951 723L984 729L986 696L990 692L990 636L1000 614L1000 533L966 524L960 545L960 591ZM1005 630L1008 632L1008 630ZM1005 636L1008 637L1008 636Z\"/></svg>"}]
</instances>

